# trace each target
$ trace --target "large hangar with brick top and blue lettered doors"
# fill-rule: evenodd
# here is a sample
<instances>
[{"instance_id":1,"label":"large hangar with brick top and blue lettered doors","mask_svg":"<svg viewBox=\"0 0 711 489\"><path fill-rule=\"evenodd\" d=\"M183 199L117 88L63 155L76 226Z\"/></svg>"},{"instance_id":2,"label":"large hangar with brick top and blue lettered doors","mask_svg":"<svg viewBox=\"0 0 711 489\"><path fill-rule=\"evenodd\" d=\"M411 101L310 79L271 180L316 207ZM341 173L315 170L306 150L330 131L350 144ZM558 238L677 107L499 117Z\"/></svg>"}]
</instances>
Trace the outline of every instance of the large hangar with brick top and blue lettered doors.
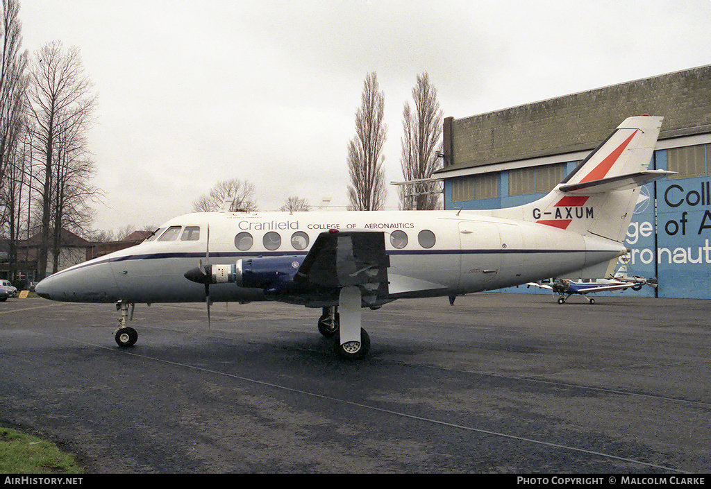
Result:
<instances>
[{"instance_id":1,"label":"large hangar with brick top and blue lettered doors","mask_svg":"<svg viewBox=\"0 0 711 489\"><path fill-rule=\"evenodd\" d=\"M711 299L711 65L565 97L444 119L444 208L533 202L626 117L664 117L629 226L629 274L657 277L636 295ZM523 291L515 289L516 291Z\"/></svg>"}]
</instances>

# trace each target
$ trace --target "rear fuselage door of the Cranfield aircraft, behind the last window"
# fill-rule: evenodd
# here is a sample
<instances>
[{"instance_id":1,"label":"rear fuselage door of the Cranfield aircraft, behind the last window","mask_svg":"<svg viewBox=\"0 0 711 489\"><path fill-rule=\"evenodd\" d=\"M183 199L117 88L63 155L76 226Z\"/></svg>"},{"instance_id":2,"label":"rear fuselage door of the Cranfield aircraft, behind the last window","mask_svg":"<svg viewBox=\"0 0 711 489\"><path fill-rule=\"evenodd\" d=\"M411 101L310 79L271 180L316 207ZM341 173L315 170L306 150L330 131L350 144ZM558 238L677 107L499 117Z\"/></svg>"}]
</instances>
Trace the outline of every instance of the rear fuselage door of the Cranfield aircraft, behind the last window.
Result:
<instances>
[{"instance_id":1,"label":"rear fuselage door of the Cranfield aircraft, behind the last window","mask_svg":"<svg viewBox=\"0 0 711 489\"><path fill-rule=\"evenodd\" d=\"M459 222L461 275L459 288L488 289L501 269L501 235L490 222Z\"/></svg>"}]
</instances>

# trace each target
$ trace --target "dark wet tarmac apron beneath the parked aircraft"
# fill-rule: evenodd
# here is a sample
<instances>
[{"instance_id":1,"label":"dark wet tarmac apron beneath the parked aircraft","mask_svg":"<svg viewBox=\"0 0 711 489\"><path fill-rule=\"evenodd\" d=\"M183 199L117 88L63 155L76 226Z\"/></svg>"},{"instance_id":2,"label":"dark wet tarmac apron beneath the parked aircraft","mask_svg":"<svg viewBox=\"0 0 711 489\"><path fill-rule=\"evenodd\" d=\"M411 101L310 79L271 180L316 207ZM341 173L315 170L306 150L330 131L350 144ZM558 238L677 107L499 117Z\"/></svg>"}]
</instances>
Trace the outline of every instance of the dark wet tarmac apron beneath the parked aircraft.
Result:
<instances>
[{"instance_id":1,"label":"dark wet tarmac apron beneath the parked aircraft","mask_svg":"<svg viewBox=\"0 0 711 489\"><path fill-rule=\"evenodd\" d=\"M711 301L474 294L366 311L0 303L0 423L90 473L705 473Z\"/></svg>"}]
</instances>

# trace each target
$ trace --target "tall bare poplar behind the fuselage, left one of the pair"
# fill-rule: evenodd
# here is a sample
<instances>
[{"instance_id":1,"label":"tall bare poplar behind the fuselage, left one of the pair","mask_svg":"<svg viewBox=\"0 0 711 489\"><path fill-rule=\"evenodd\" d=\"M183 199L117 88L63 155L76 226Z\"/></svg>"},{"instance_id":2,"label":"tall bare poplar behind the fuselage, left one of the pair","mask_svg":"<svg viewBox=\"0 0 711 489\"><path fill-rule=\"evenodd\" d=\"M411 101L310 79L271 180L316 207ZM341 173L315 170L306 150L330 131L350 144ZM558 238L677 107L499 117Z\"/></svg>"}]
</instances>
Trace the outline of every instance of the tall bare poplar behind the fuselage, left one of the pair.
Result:
<instances>
[{"instance_id":1,"label":"tall bare poplar behind the fuselage, left one of the pair","mask_svg":"<svg viewBox=\"0 0 711 489\"><path fill-rule=\"evenodd\" d=\"M378 92L378 77L375 72L369 73L363 82L360 108L355 112L355 137L348 143L349 210L378 210L385 203L384 107L385 96Z\"/></svg>"}]
</instances>

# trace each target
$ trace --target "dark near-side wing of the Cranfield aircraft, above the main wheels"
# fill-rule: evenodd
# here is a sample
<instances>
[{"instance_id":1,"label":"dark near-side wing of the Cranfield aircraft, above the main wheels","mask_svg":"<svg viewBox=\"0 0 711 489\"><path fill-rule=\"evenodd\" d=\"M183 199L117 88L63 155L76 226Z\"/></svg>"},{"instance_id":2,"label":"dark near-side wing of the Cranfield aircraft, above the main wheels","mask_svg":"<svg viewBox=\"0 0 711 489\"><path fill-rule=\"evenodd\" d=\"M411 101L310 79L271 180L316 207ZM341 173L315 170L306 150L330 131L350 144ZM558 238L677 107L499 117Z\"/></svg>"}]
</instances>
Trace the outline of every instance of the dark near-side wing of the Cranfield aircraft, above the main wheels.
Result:
<instances>
[{"instance_id":1,"label":"dark near-side wing of the Cranfield aircraft, above the main wheels","mask_svg":"<svg viewBox=\"0 0 711 489\"><path fill-rule=\"evenodd\" d=\"M375 284L387 287L390 257L385 233L378 231L322 232L296 271L294 281L328 289ZM385 289L387 290L387 289Z\"/></svg>"}]
</instances>

